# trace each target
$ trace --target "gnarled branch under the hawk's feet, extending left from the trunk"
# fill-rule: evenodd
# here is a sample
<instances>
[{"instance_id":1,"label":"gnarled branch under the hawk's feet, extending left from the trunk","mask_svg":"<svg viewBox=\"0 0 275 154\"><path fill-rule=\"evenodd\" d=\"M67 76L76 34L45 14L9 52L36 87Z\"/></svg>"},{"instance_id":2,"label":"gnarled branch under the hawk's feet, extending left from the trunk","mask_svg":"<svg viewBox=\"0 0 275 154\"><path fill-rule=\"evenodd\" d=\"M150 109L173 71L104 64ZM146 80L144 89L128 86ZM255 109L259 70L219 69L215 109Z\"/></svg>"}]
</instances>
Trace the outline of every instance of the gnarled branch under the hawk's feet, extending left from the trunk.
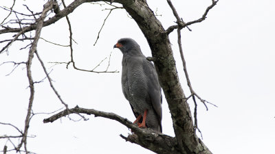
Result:
<instances>
[{"instance_id":1,"label":"gnarled branch under the hawk's feet, extending left from the trunk","mask_svg":"<svg viewBox=\"0 0 275 154\"><path fill-rule=\"evenodd\" d=\"M62 118L63 116L67 116L73 113L88 115L94 114L94 116L116 120L133 131L133 134L130 134L128 137L120 135L124 140L139 144L140 146L154 151L155 153L180 153L177 149L177 142L175 138L166 136L163 133L153 131L152 129L141 129L137 127L136 124L131 123L131 121L129 121L128 119L110 112L102 112L94 109L85 109L76 106L70 110L63 110L58 114L54 114L49 118L45 118L43 120L43 123L52 123L58 118Z\"/></svg>"}]
</instances>

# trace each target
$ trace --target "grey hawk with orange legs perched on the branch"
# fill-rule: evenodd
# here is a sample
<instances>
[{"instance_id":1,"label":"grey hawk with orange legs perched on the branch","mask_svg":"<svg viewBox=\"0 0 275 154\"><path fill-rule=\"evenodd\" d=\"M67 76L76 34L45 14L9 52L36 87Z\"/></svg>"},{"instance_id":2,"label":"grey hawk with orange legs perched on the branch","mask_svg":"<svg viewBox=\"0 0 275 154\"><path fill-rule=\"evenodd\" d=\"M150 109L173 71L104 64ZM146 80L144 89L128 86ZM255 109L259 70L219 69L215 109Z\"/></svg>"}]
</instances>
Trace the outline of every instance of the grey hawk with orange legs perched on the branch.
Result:
<instances>
[{"instance_id":1,"label":"grey hawk with orange legs perched on the branch","mask_svg":"<svg viewBox=\"0 0 275 154\"><path fill-rule=\"evenodd\" d=\"M122 91L135 115L133 123L162 132L162 89L155 66L131 38L121 38L113 48L123 54Z\"/></svg>"}]
</instances>

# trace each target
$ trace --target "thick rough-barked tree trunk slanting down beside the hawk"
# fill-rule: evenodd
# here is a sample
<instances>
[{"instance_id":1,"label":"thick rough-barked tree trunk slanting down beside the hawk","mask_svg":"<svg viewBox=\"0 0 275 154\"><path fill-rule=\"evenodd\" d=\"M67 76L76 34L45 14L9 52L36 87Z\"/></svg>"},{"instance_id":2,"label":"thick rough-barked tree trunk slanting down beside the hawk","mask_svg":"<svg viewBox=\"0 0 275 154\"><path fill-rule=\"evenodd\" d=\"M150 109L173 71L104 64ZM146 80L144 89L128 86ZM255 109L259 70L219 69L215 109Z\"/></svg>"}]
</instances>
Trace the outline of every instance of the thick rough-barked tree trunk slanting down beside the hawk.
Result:
<instances>
[{"instance_id":1,"label":"thick rough-barked tree trunk slanting down beside the hawk","mask_svg":"<svg viewBox=\"0 0 275 154\"><path fill-rule=\"evenodd\" d=\"M168 34L146 1L120 1L142 30L151 48L155 68L173 119L177 148L181 153L211 153L197 138L190 107L181 88Z\"/></svg>"}]
</instances>

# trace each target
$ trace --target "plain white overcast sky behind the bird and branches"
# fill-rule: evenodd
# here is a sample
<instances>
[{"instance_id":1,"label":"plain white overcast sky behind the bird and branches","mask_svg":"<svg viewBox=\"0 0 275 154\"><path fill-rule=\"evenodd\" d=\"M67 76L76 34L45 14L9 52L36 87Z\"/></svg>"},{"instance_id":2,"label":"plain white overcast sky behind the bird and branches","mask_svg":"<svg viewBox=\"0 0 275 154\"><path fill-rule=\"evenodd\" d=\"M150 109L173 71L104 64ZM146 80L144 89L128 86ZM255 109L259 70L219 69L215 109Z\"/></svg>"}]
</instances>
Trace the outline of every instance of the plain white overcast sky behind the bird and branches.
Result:
<instances>
[{"instance_id":1,"label":"plain white overcast sky behind the bird and branches","mask_svg":"<svg viewBox=\"0 0 275 154\"><path fill-rule=\"evenodd\" d=\"M40 3L40 4L39 4ZM42 3L42 4L41 4ZM29 5L34 12L40 12L45 1L17 1L15 10L28 12L22 4ZM203 14L211 1L173 1L177 12L184 21L195 20ZM157 14L166 29L174 25L175 17L166 1L150 1L149 6ZM10 8L11 1L1 1ZM69 2L67 2L69 5ZM107 8L110 8L107 6ZM223 154L272 154L275 138L275 1L231 0L219 1L203 23L191 25L188 31L182 30L182 42L188 73L197 94L203 99L218 105L200 103L198 124L203 133L203 142L212 153ZM136 40L144 55L151 56L150 48L142 32L124 10L114 10L107 19L96 46L94 42L102 22L109 11L100 5L81 5L69 15L72 23L74 58L79 68L94 68L111 54L109 70L121 70L122 53L113 49L119 38L130 37ZM0 21L7 12L0 10ZM33 32L34 33L34 32ZM69 32L65 18L42 30L41 37L58 44L69 44ZM8 39L1 35L0 39ZM177 71L186 95L188 87L181 66L175 31L170 34ZM28 43L24 42L25 44ZM0 44L2 47L2 44ZM14 43L9 55L0 55L0 63L22 62L28 58L28 50L19 50L21 42ZM69 69L65 65L53 66L47 62L68 62L69 48L39 40L38 51L45 62L54 86L69 107L93 108L114 112L129 120L135 120L129 103L122 94L121 73L87 73ZM105 70L108 60L98 70ZM0 66L0 122L12 123L23 129L28 108L29 89L26 70L19 66L14 72L12 64ZM35 81L45 77L34 57L32 73ZM35 113L52 112L63 107L52 92L49 83L36 84L33 110ZM193 110L192 101L188 102ZM163 102L163 133L174 136L173 125L166 101ZM67 118L54 123L43 124L43 118L50 115L36 115L30 123L28 149L35 153L153 153L140 146L125 142L120 138L131 133L116 121L85 116L87 121L74 122ZM70 116L78 119L78 116ZM11 127L0 125L0 136L18 135ZM6 140L0 140L3 149ZM17 143L17 142L15 142ZM8 149L12 144L7 143Z\"/></svg>"}]
</instances>

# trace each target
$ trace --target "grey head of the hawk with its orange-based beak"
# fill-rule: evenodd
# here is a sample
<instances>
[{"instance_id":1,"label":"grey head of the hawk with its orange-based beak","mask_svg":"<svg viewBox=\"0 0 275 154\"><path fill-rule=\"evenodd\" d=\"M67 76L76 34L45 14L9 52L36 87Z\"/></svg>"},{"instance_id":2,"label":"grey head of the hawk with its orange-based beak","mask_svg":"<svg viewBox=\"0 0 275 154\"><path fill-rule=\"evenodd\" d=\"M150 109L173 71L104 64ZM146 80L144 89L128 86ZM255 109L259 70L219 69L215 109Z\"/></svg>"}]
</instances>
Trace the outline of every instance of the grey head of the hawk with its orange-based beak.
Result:
<instances>
[{"instance_id":1,"label":"grey head of the hawk with its orange-based beak","mask_svg":"<svg viewBox=\"0 0 275 154\"><path fill-rule=\"evenodd\" d=\"M131 55L143 55L142 51L140 51L140 45L135 42L132 38L121 38L118 42L113 46L113 48L118 48L124 54Z\"/></svg>"}]
</instances>

